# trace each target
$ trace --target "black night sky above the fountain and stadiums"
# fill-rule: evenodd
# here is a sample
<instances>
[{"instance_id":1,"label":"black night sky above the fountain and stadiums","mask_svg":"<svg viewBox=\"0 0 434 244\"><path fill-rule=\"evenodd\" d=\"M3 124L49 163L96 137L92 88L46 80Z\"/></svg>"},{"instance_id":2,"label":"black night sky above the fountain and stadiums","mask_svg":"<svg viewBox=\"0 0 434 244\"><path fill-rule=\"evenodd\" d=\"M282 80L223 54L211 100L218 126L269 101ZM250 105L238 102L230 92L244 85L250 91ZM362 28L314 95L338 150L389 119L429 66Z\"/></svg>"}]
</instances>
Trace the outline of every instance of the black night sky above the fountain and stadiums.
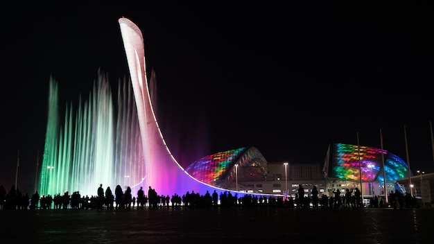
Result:
<instances>
[{"instance_id":1,"label":"black night sky above the fountain and stadiums","mask_svg":"<svg viewBox=\"0 0 434 244\"><path fill-rule=\"evenodd\" d=\"M113 84L129 76L119 17L144 35L159 123L184 166L242 146L268 162L322 164L329 143L357 144L357 133L381 148L380 130L383 148L407 161L405 125L410 167L434 171L431 3L302 2L12 3L0 184L15 182L19 150L19 188L33 191L51 75L61 107L89 93L98 69Z\"/></svg>"}]
</instances>

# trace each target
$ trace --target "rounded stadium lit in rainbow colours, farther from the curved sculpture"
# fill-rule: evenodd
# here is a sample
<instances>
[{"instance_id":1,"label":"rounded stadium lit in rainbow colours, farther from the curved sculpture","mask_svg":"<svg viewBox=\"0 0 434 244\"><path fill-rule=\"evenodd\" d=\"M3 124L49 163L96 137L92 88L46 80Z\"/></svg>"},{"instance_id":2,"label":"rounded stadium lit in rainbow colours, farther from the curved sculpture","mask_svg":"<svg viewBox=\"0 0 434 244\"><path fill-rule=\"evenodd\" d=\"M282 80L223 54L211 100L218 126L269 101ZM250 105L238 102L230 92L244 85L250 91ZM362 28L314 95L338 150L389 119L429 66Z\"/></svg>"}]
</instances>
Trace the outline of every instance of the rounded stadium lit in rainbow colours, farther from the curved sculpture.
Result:
<instances>
[{"instance_id":1,"label":"rounded stadium lit in rainbow colours, farther from the curved sculpture","mask_svg":"<svg viewBox=\"0 0 434 244\"><path fill-rule=\"evenodd\" d=\"M358 187L363 195L370 196L384 195L385 185L387 193L395 191L394 183L409 177L408 165L397 155L344 143L329 146L323 172L328 191Z\"/></svg>"}]
</instances>

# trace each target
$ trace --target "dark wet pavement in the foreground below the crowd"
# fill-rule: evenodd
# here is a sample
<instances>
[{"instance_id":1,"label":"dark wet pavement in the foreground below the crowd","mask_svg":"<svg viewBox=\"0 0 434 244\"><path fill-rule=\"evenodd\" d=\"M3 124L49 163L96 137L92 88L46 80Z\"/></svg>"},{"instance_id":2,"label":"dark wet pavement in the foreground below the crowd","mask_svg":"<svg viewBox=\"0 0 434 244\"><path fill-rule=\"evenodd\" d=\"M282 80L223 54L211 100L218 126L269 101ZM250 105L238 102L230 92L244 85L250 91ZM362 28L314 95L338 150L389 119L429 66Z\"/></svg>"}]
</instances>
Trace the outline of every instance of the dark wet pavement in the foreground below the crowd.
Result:
<instances>
[{"instance_id":1,"label":"dark wet pavement in the foreground below the crowd","mask_svg":"<svg viewBox=\"0 0 434 244\"><path fill-rule=\"evenodd\" d=\"M1 243L433 243L434 209L1 210Z\"/></svg>"}]
</instances>

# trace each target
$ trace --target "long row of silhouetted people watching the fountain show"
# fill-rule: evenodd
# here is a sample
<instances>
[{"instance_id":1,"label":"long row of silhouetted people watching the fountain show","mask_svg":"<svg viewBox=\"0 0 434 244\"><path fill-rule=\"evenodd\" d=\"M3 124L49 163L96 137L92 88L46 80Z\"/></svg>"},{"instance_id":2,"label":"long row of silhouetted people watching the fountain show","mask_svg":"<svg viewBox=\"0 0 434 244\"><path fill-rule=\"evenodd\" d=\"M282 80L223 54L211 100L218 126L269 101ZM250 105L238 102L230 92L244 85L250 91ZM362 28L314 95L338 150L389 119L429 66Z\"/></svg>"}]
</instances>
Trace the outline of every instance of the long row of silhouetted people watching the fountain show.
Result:
<instances>
[{"instance_id":1,"label":"long row of silhouetted people watching the fountain show","mask_svg":"<svg viewBox=\"0 0 434 244\"><path fill-rule=\"evenodd\" d=\"M363 207L391 207L394 209L418 207L416 199L409 193L406 195L399 191L390 192L390 203L385 204L383 198L374 196L370 198L369 204L365 206L361 201L361 191L355 189L334 189L328 197L322 194L319 197L318 189L313 186L311 193L306 193L302 184L299 185L295 198L280 195L253 195L243 194L238 197L231 191L225 191L220 195L214 190L203 195L194 191L187 191L183 195L174 193L169 195L158 195L156 189L149 186L148 194L142 187L137 193L132 193L130 186L123 191L120 185L116 185L114 193L110 186L103 189L100 184L96 189L96 195L82 196L78 191L65 192L51 195L41 195L36 191L29 196L23 194L15 185L12 185L7 192L3 185L0 185L0 210L20 209L96 209L103 210L130 210L137 209L162 209L162 208L232 208L232 207L288 207L292 209L359 209Z\"/></svg>"}]
</instances>

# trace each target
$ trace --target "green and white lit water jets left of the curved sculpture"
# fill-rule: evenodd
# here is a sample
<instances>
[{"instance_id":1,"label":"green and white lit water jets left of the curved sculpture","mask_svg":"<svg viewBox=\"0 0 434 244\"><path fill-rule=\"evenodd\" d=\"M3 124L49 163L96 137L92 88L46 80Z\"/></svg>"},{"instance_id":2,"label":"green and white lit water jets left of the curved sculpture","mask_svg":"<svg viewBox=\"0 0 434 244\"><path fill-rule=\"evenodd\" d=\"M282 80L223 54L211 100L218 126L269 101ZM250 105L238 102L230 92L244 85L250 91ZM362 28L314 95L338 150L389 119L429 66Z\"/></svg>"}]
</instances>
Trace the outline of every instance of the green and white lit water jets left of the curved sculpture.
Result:
<instances>
[{"instance_id":1,"label":"green and white lit water jets left of the curved sculpture","mask_svg":"<svg viewBox=\"0 0 434 244\"><path fill-rule=\"evenodd\" d=\"M137 110L129 82L119 83L115 105L109 82L101 73L87 101L67 105L60 126L58 85L49 89L49 114L40 195L79 191L96 195L99 184L123 188L144 178L144 157Z\"/></svg>"}]
</instances>

